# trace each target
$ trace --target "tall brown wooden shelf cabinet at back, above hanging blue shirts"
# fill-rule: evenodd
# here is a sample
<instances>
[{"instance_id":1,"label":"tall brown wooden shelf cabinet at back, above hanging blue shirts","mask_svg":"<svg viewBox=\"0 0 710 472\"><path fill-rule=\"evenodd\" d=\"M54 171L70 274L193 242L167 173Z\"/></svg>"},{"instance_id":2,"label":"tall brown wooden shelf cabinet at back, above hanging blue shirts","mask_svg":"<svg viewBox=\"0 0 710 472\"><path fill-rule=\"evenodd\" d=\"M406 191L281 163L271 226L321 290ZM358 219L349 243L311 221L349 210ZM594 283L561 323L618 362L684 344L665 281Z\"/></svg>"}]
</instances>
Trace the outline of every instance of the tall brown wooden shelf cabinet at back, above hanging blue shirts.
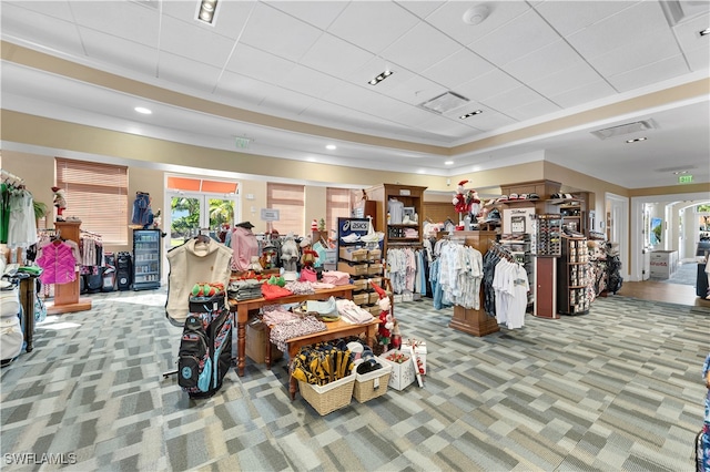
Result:
<instances>
[{"instance_id":1,"label":"tall brown wooden shelf cabinet at back, above hanging blue shirts","mask_svg":"<svg viewBox=\"0 0 710 472\"><path fill-rule=\"evenodd\" d=\"M424 191L426 187L399 184L382 184L369 187L365 191L367 198L377 202L376 217L373 225L378 232L385 234L383 244L383 257L387 254L389 246L416 246L422 244L422 229L424 220L423 204ZM403 203L405 208L412 208L417 214L417 222L414 224L403 224L387 219L389 199L395 198ZM405 229L416 229L416 237L405 237Z\"/></svg>"}]
</instances>

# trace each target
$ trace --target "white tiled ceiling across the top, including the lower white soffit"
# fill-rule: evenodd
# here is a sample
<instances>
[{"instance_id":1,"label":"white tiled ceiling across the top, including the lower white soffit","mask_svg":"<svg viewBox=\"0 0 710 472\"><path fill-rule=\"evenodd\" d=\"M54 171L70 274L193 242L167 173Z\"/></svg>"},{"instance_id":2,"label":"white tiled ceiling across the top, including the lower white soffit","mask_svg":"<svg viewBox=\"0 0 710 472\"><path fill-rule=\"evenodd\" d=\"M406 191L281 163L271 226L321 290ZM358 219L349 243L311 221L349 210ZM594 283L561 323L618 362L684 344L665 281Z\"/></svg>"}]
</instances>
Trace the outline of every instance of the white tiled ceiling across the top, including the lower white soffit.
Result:
<instances>
[{"instance_id":1,"label":"white tiled ceiling across the top, including the lower white soffit","mask_svg":"<svg viewBox=\"0 0 710 472\"><path fill-rule=\"evenodd\" d=\"M579 111L611 103L613 98L623 100L645 90L709 75L710 37L698 32L710 23L710 2L483 3L488 7L488 17L471 25L464 22L464 12L480 1L222 0L215 23L209 25L195 20L196 0L3 1L0 34L10 43L222 104L336 132L440 146L458 146L484 135L505 133L515 125L558 117L565 109ZM673 9L682 16L669 23ZM10 53L6 57L11 58ZM3 96L12 98L16 105L36 103L41 96L48 113L67 106L71 119L82 111L94 119L103 113L102 123L112 115L115 120L130 119L125 95L116 96L114 112L110 111L108 95L84 100L82 107L77 107L62 99L78 90L67 81L43 76L40 70L20 72L19 68L6 66L7 61L2 65ZM395 74L376 86L367 83L385 69ZM52 88L67 88L68 93L55 93ZM469 102L444 115L419 107L447 91ZM91 88L87 94L99 92ZM91 103L101 104L101 110L90 110ZM458 119L473 109L484 113ZM698 113L700 109L692 110ZM33 105L32 111L37 111ZM214 136L219 131L248 127L262 143L273 142L273 150L290 157L297 153L286 152L288 136L297 145L312 142L314 148L322 142L322 136L298 135L294 141L287 130L187 115L189 110L171 112L175 113L174 120L162 123L165 131L161 136L187 123L190 134L183 136L194 137L201 132ZM663 123L663 116L652 117ZM674 119L690 121L686 114ZM149 129L150 117L131 122L139 121ZM710 126L707 116L696 116L694 121L704 127L693 130L696 138L688 140L688 146L698 147L698 142L709 141ZM154 123L150 129L160 126ZM201 127L203 131L199 131ZM116 124L116 129L126 126ZM272 136L266 137L270 133ZM284 137L275 133L284 133ZM559 135L557 140L564 133ZM226 137L217 141L229 142ZM676 141L676 146L684 145L670 141ZM588 167L582 161L591 148L582 153L579 145L562 145L561 141L555 144L555 140L539 137L535 142L555 148L555 153L569 152L574 157L566 161L568 166ZM510 143L497 152L511 157L516 152L536 151L531 145ZM605 158L632 152L612 143L604 145ZM264 144L260 146L266 150ZM473 164L480 160L477 154L487 152L459 156L457 166ZM400 162L396 147L377 148L377 153L392 156L393 165ZM604 168L596 172L599 178L620 178Z\"/></svg>"}]
</instances>

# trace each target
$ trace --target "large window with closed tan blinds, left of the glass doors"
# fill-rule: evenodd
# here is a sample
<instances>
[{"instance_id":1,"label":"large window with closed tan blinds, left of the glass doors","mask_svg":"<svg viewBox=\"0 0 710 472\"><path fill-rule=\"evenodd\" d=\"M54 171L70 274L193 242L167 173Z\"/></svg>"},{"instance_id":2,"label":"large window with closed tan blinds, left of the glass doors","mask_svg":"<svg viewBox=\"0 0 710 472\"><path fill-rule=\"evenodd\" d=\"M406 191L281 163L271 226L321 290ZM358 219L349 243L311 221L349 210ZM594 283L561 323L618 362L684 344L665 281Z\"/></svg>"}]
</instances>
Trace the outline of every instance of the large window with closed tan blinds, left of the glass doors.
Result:
<instances>
[{"instance_id":1,"label":"large window with closed tan blinds, left of the glass doors","mask_svg":"<svg viewBox=\"0 0 710 472\"><path fill-rule=\"evenodd\" d=\"M54 162L57 186L67 198L63 216L81 219L81 228L101 235L104 244L128 244L128 167L62 157Z\"/></svg>"}]
</instances>

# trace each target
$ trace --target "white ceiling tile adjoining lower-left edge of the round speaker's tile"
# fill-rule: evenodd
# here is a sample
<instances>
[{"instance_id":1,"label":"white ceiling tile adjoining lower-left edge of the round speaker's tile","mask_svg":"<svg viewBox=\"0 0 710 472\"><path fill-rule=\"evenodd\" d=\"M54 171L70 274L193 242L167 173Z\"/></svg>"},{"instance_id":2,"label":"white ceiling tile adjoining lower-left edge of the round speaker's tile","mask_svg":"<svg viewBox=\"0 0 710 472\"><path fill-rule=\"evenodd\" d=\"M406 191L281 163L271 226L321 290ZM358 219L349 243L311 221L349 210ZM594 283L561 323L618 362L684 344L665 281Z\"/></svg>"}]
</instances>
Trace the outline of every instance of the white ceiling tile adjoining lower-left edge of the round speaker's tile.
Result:
<instances>
[{"instance_id":1,"label":"white ceiling tile adjoining lower-left edge of the round speaker's tile","mask_svg":"<svg viewBox=\"0 0 710 472\"><path fill-rule=\"evenodd\" d=\"M458 51L460 44L426 23L419 23L382 52L382 57L420 71Z\"/></svg>"}]
</instances>

